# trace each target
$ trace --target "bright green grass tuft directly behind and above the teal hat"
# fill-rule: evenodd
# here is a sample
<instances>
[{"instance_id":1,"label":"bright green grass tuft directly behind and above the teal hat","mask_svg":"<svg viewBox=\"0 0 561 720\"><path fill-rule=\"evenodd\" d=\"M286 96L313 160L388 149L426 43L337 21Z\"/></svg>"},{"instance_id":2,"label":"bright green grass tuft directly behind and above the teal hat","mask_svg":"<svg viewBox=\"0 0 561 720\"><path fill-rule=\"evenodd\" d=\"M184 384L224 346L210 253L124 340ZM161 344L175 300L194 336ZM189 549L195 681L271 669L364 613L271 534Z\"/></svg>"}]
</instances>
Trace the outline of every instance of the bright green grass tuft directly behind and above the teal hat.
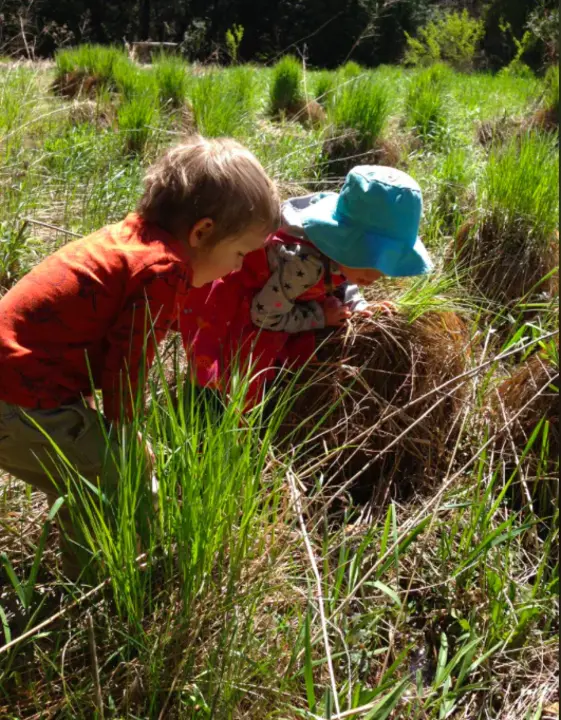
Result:
<instances>
[{"instance_id":1,"label":"bright green grass tuft directly behind and above the teal hat","mask_svg":"<svg viewBox=\"0 0 561 720\"><path fill-rule=\"evenodd\" d=\"M389 90L385 83L359 78L344 85L333 107L337 132L352 130L363 149L372 147L382 134L390 113Z\"/></svg>"}]
</instances>

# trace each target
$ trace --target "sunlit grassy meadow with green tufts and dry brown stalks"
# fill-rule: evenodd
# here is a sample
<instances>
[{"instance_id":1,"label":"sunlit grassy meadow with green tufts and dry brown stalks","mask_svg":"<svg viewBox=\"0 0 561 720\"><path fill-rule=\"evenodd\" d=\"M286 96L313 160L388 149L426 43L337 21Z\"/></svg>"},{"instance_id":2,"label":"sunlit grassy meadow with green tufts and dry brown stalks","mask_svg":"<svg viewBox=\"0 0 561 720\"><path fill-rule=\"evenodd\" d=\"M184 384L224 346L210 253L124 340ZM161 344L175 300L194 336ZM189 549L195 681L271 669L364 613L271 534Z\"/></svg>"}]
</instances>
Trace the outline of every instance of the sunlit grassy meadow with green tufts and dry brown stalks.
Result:
<instances>
[{"instance_id":1,"label":"sunlit grassy meadow with green tufts and dry brown stalks","mask_svg":"<svg viewBox=\"0 0 561 720\"><path fill-rule=\"evenodd\" d=\"M328 339L335 374L242 422L247 377L217 412L172 338L131 429L160 502L124 437L117 505L73 489L83 583L56 507L0 476L1 717L558 716L558 78L88 46L0 64L0 294L134 209L194 131L247 145L283 198L406 170L436 261L370 291L397 315Z\"/></svg>"}]
</instances>

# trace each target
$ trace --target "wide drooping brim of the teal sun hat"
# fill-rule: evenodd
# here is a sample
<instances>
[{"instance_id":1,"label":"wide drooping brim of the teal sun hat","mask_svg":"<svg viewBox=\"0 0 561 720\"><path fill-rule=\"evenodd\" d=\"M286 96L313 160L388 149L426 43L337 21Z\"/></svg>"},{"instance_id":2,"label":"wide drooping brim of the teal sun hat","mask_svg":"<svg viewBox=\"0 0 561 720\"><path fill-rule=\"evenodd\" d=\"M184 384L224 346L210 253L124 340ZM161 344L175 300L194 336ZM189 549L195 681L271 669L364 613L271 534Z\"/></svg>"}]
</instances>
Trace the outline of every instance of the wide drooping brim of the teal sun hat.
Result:
<instances>
[{"instance_id":1,"label":"wide drooping brim of the teal sun hat","mask_svg":"<svg viewBox=\"0 0 561 720\"><path fill-rule=\"evenodd\" d=\"M378 233L365 233L337 217L338 196L327 196L298 213L308 239L328 258L356 269L376 269L389 277L426 275L433 270L419 237L407 246Z\"/></svg>"}]
</instances>

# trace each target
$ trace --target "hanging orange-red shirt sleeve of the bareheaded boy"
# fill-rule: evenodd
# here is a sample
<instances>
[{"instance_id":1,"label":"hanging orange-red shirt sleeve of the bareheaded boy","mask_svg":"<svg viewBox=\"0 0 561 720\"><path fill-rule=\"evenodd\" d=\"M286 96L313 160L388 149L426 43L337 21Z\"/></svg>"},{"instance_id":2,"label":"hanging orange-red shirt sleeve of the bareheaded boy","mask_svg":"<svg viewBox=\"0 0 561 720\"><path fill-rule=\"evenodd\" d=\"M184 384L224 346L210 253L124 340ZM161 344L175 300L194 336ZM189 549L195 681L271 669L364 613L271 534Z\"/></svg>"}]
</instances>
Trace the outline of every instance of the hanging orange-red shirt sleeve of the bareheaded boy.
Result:
<instances>
[{"instance_id":1,"label":"hanging orange-red shirt sleeve of the bareheaded boy","mask_svg":"<svg viewBox=\"0 0 561 720\"><path fill-rule=\"evenodd\" d=\"M140 277L109 329L101 390L110 421L131 419L157 345L177 322L178 297L173 274Z\"/></svg>"}]
</instances>

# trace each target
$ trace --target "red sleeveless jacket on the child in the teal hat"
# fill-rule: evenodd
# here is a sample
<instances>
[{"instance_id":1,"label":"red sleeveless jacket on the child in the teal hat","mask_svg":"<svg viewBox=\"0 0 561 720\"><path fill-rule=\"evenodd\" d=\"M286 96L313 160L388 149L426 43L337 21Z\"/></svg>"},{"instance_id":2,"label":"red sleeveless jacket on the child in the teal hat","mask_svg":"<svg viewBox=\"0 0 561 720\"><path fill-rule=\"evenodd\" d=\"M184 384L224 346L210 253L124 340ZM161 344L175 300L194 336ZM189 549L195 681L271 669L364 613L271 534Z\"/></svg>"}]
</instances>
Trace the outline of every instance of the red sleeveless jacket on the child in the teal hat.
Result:
<instances>
[{"instance_id":1,"label":"red sleeveless jacket on the child in the teal hat","mask_svg":"<svg viewBox=\"0 0 561 720\"><path fill-rule=\"evenodd\" d=\"M271 242L303 241L278 232L268 240ZM266 247L256 250L246 255L241 270L215 281L211 287L193 290L180 321L197 384L224 390L229 387L233 367L237 365L242 372L251 367L250 406L259 400L264 384L275 377L281 366L301 367L313 358L316 348L313 331L290 334L263 330L253 324L253 297L270 276ZM333 274L331 289L344 282L344 276ZM322 302L327 295L322 277L298 300Z\"/></svg>"}]
</instances>

